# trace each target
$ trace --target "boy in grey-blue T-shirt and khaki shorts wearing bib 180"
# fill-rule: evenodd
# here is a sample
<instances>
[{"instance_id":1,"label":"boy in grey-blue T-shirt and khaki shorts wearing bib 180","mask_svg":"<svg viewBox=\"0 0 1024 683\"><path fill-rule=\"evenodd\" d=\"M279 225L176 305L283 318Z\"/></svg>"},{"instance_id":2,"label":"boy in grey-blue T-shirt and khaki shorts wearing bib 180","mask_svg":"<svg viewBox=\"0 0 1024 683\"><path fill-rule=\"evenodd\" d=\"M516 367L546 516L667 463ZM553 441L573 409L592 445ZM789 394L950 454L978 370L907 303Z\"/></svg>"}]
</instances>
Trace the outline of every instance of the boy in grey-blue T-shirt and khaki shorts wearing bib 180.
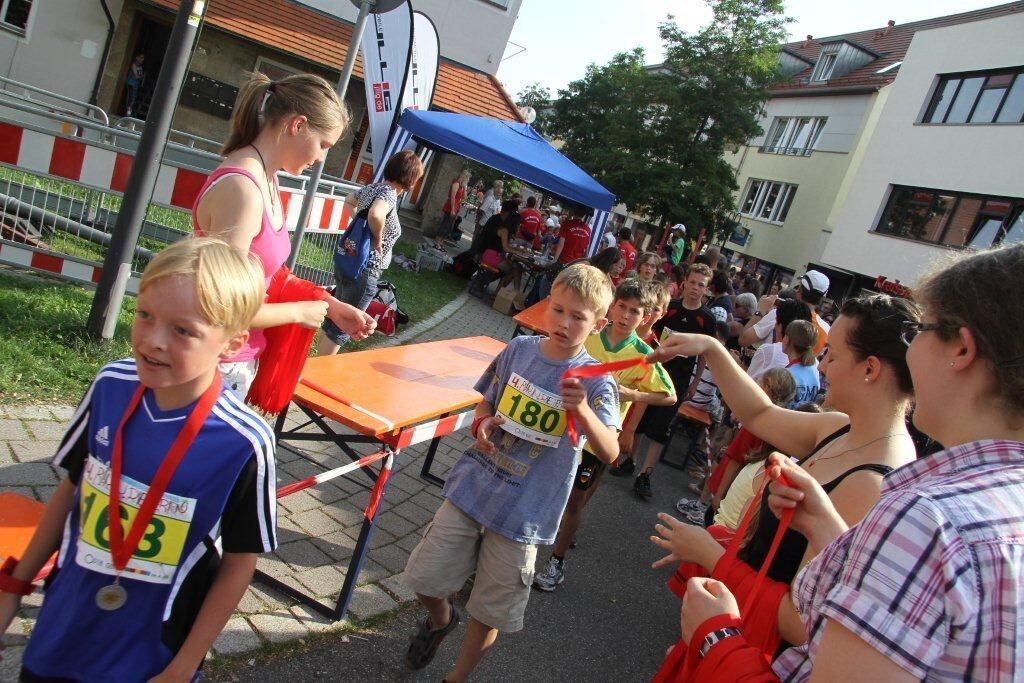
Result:
<instances>
[{"instance_id":1,"label":"boy in grey-blue T-shirt and khaki shorts wearing bib 180","mask_svg":"<svg viewBox=\"0 0 1024 683\"><path fill-rule=\"evenodd\" d=\"M607 276L587 264L562 270L546 314L549 337L517 337L476 384L473 444L444 484L445 501L406 565L407 585L429 611L406 655L426 667L458 625L450 596L474 571L462 650L449 681L465 681L500 631L522 629L537 546L555 540L581 445L566 433L567 411L604 463L618 455L618 396L607 376L562 379L594 364L584 342L605 324Z\"/></svg>"}]
</instances>

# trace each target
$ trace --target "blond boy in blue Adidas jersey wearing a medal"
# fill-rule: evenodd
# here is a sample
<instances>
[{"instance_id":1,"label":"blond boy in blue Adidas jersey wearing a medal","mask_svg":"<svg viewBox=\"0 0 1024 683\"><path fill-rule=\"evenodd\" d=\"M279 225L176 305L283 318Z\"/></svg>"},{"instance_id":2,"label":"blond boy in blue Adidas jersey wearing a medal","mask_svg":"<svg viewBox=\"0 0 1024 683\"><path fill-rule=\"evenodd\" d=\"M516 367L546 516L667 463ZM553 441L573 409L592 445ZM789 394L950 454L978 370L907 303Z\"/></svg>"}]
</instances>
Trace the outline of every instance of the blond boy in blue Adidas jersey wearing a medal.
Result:
<instances>
[{"instance_id":1,"label":"blond boy in blue Adidas jersey wearing a medal","mask_svg":"<svg viewBox=\"0 0 1024 683\"><path fill-rule=\"evenodd\" d=\"M262 300L258 267L219 240L184 240L150 263L134 357L93 380L54 458L68 474L0 575L2 632L58 551L23 681L196 676L256 554L276 545L273 433L217 371Z\"/></svg>"}]
</instances>

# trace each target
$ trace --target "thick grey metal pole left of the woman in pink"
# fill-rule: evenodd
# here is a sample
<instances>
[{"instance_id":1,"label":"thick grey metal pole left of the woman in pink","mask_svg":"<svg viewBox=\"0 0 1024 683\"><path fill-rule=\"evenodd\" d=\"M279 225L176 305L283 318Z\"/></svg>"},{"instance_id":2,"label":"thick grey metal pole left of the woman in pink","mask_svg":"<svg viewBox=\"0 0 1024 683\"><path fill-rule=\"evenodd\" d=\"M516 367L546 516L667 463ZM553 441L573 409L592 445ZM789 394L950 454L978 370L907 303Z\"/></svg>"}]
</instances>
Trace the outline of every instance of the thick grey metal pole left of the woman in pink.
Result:
<instances>
[{"instance_id":1,"label":"thick grey metal pole left of the woman in pink","mask_svg":"<svg viewBox=\"0 0 1024 683\"><path fill-rule=\"evenodd\" d=\"M92 298L92 309L86 324L86 334L94 339L110 341L118 324L121 303L131 276L131 260L145 220L145 209L153 198L160 171L167 135L171 129L174 104L184 81L193 42L199 31L206 0L182 0L178 6L174 28L167 43L160 76L154 89L153 102L146 116L145 130L139 140L125 187L124 202L114 224L111 245L103 259L103 270Z\"/></svg>"}]
</instances>

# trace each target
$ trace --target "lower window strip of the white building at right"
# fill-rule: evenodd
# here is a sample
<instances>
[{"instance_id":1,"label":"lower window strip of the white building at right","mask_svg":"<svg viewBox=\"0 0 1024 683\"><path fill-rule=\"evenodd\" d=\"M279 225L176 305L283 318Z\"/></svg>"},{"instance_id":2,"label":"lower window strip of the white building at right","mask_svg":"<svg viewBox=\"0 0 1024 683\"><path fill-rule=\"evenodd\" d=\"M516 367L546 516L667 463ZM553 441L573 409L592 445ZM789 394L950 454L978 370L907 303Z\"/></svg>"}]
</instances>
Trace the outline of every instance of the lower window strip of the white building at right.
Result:
<instances>
[{"instance_id":1,"label":"lower window strip of the white building at right","mask_svg":"<svg viewBox=\"0 0 1024 683\"><path fill-rule=\"evenodd\" d=\"M947 247L987 249L1024 240L1024 199L893 187L874 231Z\"/></svg>"}]
</instances>

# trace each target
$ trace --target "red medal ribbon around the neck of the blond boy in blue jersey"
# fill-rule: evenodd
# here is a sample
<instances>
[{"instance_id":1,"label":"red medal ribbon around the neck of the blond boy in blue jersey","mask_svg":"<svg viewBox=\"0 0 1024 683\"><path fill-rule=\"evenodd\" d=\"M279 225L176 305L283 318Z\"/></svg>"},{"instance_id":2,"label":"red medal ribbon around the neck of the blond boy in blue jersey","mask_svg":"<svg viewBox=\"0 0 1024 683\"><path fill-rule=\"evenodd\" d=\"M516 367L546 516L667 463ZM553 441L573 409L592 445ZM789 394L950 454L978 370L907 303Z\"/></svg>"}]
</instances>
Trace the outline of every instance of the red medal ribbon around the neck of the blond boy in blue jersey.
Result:
<instances>
[{"instance_id":1,"label":"red medal ribbon around the neck of the blond boy in blue jersey","mask_svg":"<svg viewBox=\"0 0 1024 683\"><path fill-rule=\"evenodd\" d=\"M181 427L181 431L174 438L170 451L167 452L163 462L160 463L157 474L150 483L150 489L142 498L138 514L135 516L131 528L128 529L128 538L125 540L124 529L121 524L121 461L124 450L122 435L125 425L128 424L128 420L131 419L135 409L138 408L139 401L142 400L142 394L145 393L145 385L139 383L135 389L135 393L128 403L128 409L125 411L124 417L121 418L121 424L118 425L118 431L114 435L114 452L111 455L111 495L110 506L108 508L110 521L108 525L111 536L111 559L114 562L114 568L118 571L122 571L125 568L128 560L131 559L131 556L138 548L138 543L142 540L142 533L150 525L150 521L157 511L157 505L160 504L164 493L167 492L171 477L174 476L174 472L178 469L181 459L184 458L185 453L191 447L193 441L196 440L196 435L199 434L199 430L210 416L210 412L213 411L214 404L220 397L222 386L220 373L215 373L213 382L203 392L199 402L196 403L196 408L188 414L184 426Z\"/></svg>"}]
</instances>

